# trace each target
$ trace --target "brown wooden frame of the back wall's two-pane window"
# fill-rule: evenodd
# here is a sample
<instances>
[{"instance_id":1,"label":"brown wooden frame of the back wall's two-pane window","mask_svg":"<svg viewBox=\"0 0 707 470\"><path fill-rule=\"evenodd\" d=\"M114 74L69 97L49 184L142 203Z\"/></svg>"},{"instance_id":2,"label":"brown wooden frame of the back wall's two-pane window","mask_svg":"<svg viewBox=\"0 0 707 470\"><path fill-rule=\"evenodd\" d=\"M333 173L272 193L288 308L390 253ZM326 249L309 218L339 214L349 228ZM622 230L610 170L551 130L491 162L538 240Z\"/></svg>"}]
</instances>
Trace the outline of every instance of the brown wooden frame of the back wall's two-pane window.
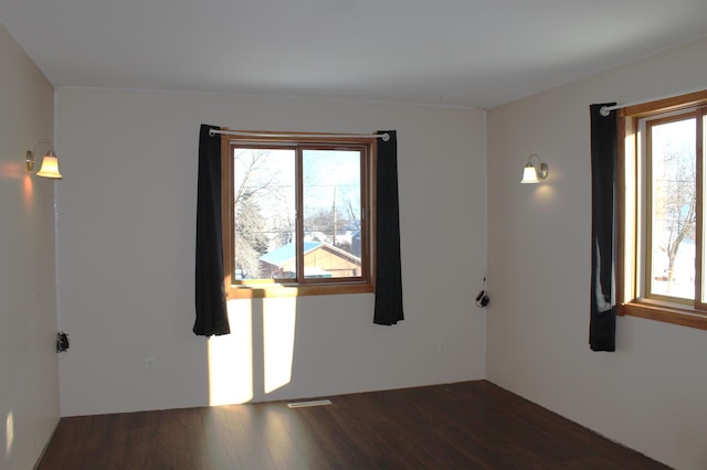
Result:
<instances>
[{"instance_id":1,"label":"brown wooden frame of the back wall's two-pane window","mask_svg":"<svg viewBox=\"0 0 707 470\"><path fill-rule=\"evenodd\" d=\"M229 131L228 128L221 129ZM251 298L279 298L298 296L323 296L342 293L366 293L376 290L376 168L377 168L377 138L352 136L327 137L326 133L303 133L297 132L295 137L283 137L283 132L274 131L243 131L249 136L221 135L221 206L222 206L222 236L223 236L223 266L224 266L224 288L226 299L251 299ZM257 136L255 136L257 135ZM361 257L361 279L344 278L341 280L315 280L307 279L303 282L287 282L275 279L257 279L249 281L236 281L234 279L235 257L235 214L232 207L234 197L233 183L233 148L234 142L239 145L274 146L294 148L295 146L335 148L337 145L362 147L366 158L362 163L361 181L362 193L366 201L361 201L363 214L361 226L363 227L362 257ZM297 183L297 197L302 199L303 185ZM297 246L303 249L303 227L297 226ZM303 271L303 261L299 261L298 271Z\"/></svg>"}]
</instances>

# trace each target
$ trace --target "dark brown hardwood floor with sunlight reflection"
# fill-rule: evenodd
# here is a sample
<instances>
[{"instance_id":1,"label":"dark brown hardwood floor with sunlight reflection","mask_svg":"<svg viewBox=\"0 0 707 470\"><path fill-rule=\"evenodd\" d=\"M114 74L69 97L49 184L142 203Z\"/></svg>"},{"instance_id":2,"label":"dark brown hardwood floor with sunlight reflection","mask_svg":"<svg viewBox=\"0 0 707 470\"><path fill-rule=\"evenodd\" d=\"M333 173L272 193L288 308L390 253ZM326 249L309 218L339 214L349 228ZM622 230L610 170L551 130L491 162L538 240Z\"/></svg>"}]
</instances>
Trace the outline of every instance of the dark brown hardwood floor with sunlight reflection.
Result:
<instances>
[{"instance_id":1,"label":"dark brown hardwood floor with sunlight reflection","mask_svg":"<svg viewBox=\"0 0 707 470\"><path fill-rule=\"evenodd\" d=\"M50 469L666 469L489 382L62 418Z\"/></svg>"}]
</instances>

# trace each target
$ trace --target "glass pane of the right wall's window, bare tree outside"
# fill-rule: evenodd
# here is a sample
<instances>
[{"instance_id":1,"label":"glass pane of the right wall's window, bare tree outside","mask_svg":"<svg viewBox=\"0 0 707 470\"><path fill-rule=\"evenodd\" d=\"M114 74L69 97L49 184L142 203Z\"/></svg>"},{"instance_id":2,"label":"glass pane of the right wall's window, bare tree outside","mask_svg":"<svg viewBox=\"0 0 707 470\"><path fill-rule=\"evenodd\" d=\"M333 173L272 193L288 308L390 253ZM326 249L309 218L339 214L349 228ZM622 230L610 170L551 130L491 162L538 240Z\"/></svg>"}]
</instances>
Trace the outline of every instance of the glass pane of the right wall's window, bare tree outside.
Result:
<instances>
[{"instance_id":1,"label":"glass pane of the right wall's window, bare tree outside","mask_svg":"<svg viewBox=\"0 0 707 470\"><path fill-rule=\"evenodd\" d=\"M651 293L695 298L695 119L651 129Z\"/></svg>"}]
</instances>

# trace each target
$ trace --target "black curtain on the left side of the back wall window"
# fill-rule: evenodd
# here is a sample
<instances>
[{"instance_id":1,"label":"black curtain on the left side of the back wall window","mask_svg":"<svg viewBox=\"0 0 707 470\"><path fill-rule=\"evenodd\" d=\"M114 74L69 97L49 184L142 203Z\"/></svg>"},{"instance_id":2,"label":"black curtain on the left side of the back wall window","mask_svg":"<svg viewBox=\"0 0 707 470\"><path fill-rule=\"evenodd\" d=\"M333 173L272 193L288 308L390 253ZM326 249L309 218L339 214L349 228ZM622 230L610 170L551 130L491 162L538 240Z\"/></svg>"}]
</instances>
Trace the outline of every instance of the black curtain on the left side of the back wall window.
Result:
<instances>
[{"instance_id":1,"label":"black curtain on the left side of the back wall window","mask_svg":"<svg viewBox=\"0 0 707 470\"><path fill-rule=\"evenodd\" d=\"M221 234L221 139L201 125L199 133L199 186L197 192L197 320L193 332L202 337L229 334L223 286Z\"/></svg>"}]
</instances>

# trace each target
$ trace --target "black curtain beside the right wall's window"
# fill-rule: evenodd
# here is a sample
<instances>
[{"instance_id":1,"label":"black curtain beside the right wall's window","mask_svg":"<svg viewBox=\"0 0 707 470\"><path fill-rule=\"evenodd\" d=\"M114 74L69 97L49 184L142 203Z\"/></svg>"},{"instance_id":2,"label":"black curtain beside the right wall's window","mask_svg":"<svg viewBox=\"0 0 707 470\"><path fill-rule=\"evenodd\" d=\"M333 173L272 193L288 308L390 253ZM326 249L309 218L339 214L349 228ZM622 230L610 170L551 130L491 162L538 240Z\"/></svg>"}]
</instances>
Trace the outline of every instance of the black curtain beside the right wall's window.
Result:
<instances>
[{"instance_id":1,"label":"black curtain beside the right wall's window","mask_svg":"<svg viewBox=\"0 0 707 470\"><path fill-rule=\"evenodd\" d=\"M589 345L592 351L616 349L614 248L616 228L616 113L602 116L591 105L592 279Z\"/></svg>"}]
</instances>

